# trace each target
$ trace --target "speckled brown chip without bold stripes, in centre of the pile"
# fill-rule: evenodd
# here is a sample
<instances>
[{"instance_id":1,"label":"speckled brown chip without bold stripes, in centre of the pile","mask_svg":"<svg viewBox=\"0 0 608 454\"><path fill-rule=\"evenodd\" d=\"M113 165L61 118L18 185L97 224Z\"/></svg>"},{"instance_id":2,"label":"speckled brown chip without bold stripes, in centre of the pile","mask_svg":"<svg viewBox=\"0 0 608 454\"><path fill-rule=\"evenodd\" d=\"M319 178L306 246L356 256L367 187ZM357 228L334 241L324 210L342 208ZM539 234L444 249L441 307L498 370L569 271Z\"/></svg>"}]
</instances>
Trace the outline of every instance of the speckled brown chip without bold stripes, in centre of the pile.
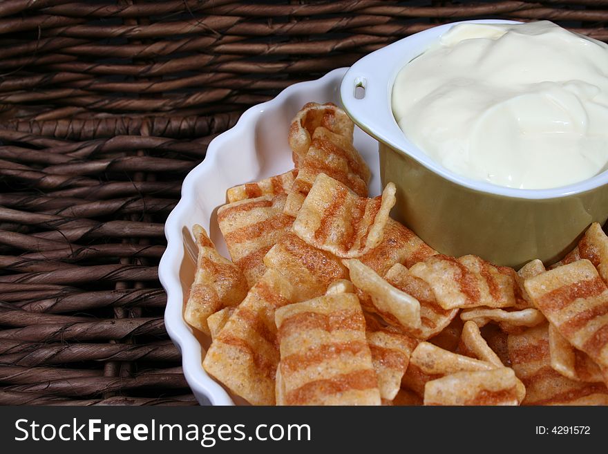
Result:
<instances>
[{"instance_id":1,"label":"speckled brown chip without bold stripes, in centre of the pile","mask_svg":"<svg viewBox=\"0 0 608 454\"><path fill-rule=\"evenodd\" d=\"M295 302L321 296L330 283L348 277L348 269L336 256L315 249L292 232L268 251L264 264L294 285Z\"/></svg>"}]
</instances>

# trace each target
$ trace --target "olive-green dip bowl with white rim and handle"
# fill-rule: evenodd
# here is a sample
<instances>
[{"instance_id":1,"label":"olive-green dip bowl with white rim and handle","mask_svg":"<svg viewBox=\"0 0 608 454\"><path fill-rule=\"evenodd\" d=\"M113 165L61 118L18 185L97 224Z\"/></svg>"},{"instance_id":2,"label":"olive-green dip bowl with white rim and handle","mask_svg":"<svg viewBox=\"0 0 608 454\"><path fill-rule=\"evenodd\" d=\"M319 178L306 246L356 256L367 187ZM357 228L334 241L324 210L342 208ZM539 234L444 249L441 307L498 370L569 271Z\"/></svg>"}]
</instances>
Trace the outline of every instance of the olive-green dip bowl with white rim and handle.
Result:
<instances>
[{"instance_id":1,"label":"olive-green dip bowl with white rim and handle","mask_svg":"<svg viewBox=\"0 0 608 454\"><path fill-rule=\"evenodd\" d=\"M471 180L441 167L409 142L392 115L390 95L399 70L453 25L401 39L355 63L341 84L345 111L379 141L382 183L397 186L393 216L428 245L443 254L475 254L515 268L534 258L554 263L591 223L607 220L608 172L553 189ZM365 91L361 99L356 87Z\"/></svg>"}]
</instances>

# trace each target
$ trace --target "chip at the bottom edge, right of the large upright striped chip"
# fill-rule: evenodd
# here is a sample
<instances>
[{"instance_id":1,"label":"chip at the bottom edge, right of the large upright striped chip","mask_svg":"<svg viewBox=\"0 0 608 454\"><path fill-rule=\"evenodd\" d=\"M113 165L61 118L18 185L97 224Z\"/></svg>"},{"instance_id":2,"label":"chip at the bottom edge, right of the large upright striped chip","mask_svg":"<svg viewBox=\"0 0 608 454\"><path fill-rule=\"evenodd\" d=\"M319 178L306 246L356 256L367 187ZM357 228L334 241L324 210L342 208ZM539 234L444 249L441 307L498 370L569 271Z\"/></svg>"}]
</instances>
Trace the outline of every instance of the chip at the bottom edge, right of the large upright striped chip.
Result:
<instances>
[{"instance_id":1,"label":"chip at the bottom edge, right of the large upright striped chip","mask_svg":"<svg viewBox=\"0 0 608 454\"><path fill-rule=\"evenodd\" d=\"M424 405L519 405L517 377L510 368L455 372L424 387Z\"/></svg>"}]
</instances>

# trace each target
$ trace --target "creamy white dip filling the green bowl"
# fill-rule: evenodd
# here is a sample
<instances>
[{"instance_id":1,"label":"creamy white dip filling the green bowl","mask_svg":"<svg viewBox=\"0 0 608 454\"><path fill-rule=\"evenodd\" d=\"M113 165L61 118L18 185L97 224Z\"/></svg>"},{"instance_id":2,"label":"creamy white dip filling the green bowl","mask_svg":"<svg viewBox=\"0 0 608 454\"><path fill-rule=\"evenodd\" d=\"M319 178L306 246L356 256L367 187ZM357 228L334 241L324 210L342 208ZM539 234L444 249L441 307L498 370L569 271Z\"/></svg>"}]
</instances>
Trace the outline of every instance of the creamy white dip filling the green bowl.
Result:
<instances>
[{"instance_id":1,"label":"creamy white dip filling the green bowl","mask_svg":"<svg viewBox=\"0 0 608 454\"><path fill-rule=\"evenodd\" d=\"M608 45L549 21L454 26L401 69L406 137L461 176L521 189L608 162Z\"/></svg>"}]
</instances>

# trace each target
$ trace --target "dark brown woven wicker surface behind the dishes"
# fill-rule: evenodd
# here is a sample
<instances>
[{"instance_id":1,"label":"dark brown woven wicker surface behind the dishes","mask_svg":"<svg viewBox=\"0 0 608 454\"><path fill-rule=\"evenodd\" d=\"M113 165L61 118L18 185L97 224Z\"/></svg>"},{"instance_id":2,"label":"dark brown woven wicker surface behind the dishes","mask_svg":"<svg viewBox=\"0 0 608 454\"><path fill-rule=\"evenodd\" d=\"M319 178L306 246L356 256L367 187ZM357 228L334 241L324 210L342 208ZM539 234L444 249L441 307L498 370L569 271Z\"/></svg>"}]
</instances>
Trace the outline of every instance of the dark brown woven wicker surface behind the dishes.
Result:
<instances>
[{"instance_id":1,"label":"dark brown woven wicker surface behind the dishes","mask_svg":"<svg viewBox=\"0 0 608 454\"><path fill-rule=\"evenodd\" d=\"M437 23L607 0L0 2L0 404L196 404L162 321L163 223L252 104Z\"/></svg>"}]
</instances>

